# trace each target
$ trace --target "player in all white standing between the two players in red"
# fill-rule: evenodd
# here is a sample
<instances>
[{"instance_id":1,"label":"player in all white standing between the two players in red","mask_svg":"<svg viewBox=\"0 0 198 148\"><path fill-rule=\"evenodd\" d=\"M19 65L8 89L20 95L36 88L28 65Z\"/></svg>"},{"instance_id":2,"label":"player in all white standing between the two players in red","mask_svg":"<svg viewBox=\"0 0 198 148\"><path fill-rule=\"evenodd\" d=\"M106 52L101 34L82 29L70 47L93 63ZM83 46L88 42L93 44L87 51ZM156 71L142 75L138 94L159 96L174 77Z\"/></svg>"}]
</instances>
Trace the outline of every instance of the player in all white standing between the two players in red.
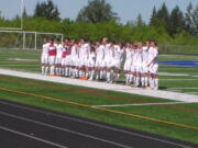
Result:
<instances>
[{"instance_id":1,"label":"player in all white standing between the two players in red","mask_svg":"<svg viewBox=\"0 0 198 148\"><path fill-rule=\"evenodd\" d=\"M63 58L63 44L59 39L57 39L56 46L56 59L55 59L55 67L56 67L56 75L61 76L62 73L62 58Z\"/></svg>"}]
</instances>

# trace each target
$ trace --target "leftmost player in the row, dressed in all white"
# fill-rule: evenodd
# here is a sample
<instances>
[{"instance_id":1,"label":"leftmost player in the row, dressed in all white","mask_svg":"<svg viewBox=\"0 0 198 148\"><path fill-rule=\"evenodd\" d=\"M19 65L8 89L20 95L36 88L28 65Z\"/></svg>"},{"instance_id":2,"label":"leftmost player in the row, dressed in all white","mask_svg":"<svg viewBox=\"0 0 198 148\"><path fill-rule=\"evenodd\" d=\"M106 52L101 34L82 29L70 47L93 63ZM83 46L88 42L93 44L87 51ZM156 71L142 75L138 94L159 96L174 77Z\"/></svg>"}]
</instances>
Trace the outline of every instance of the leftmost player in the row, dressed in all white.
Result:
<instances>
[{"instance_id":1,"label":"leftmost player in the row, dressed in all white","mask_svg":"<svg viewBox=\"0 0 198 148\"><path fill-rule=\"evenodd\" d=\"M41 56L41 62L42 62L42 75L47 75L48 71L48 47L50 44L47 43L47 39L43 39L43 48L42 48L42 56Z\"/></svg>"}]
</instances>

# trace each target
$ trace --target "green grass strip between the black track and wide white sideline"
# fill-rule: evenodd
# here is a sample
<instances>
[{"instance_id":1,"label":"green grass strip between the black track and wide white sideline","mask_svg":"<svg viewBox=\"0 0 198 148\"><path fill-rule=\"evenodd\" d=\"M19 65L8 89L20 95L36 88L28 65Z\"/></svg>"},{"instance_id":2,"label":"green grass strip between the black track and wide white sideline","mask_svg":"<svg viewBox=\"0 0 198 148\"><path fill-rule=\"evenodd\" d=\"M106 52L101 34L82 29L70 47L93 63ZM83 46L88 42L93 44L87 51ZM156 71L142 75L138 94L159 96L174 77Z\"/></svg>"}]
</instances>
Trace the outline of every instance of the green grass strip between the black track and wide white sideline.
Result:
<instances>
[{"instance_id":1,"label":"green grass strip between the black track and wide white sideline","mask_svg":"<svg viewBox=\"0 0 198 148\"><path fill-rule=\"evenodd\" d=\"M0 76L0 88L35 93L40 95L56 98L86 105L129 103L133 104L139 103L139 101L168 102L168 100L156 98L133 95L129 93L119 93L113 91L102 91L84 87L22 79L8 76ZM24 94L18 94L13 92L7 92L2 90L0 90L0 98L198 144L198 130L195 129L176 127L163 123L151 122L142 118L124 116L121 114L114 114L99 110L86 109L77 105L65 104L61 102L50 101ZM157 119L174 122L177 124L186 124L197 127L197 109L198 103L163 106L153 105L111 107L109 110L116 110L128 114L130 113L146 117L154 117Z\"/></svg>"}]
</instances>

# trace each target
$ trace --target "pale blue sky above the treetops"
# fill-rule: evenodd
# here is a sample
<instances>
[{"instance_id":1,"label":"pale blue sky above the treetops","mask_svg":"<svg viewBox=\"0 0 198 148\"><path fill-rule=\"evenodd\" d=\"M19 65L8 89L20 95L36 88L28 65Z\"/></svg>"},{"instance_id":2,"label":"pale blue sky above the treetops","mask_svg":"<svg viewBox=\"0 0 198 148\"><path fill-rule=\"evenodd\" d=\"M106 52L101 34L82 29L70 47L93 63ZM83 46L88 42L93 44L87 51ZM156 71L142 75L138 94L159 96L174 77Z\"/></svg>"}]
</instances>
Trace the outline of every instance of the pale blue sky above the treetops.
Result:
<instances>
[{"instance_id":1,"label":"pale blue sky above the treetops","mask_svg":"<svg viewBox=\"0 0 198 148\"><path fill-rule=\"evenodd\" d=\"M0 0L0 11L6 19L12 19L20 14L21 0ZM24 0L24 5L28 14L33 14L37 1L46 0ZM69 18L75 20L79 10L88 4L89 0L53 0L61 11L61 18ZM127 23L128 21L135 20L139 13L142 14L143 20L147 23L151 18L153 7L158 9L163 2L166 3L168 10L178 5L183 12L189 2L194 7L198 4L198 0L106 0L112 5L112 10L118 13L120 21Z\"/></svg>"}]
</instances>

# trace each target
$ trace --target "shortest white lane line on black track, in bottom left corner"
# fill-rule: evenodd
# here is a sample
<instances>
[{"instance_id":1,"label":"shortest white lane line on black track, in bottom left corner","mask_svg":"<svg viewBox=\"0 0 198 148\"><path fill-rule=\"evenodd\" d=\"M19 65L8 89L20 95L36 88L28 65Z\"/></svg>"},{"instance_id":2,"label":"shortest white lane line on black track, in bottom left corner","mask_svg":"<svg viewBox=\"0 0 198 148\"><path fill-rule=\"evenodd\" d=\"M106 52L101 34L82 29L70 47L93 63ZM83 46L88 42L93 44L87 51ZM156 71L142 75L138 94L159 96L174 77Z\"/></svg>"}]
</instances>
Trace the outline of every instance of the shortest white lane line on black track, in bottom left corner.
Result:
<instances>
[{"instance_id":1,"label":"shortest white lane line on black track, in bottom left corner","mask_svg":"<svg viewBox=\"0 0 198 148\"><path fill-rule=\"evenodd\" d=\"M58 144L55 144L55 143L52 143L52 141L48 141L48 140L45 140L45 139L42 139L42 138L38 138L38 137L35 137L35 136L31 136L31 135L28 135L28 134L24 134L24 133L21 133L21 132L11 129L11 128L7 128L7 127L3 127L3 126L0 126L0 129L16 134L16 135L20 135L20 136L23 136L23 137L28 137L28 138L31 138L31 139L35 139L35 140L38 140L38 141L42 141L42 143L45 143L45 144L48 144L51 146L55 146L55 147L58 147L58 148L67 148L65 146L62 146L62 145L58 145Z\"/></svg>"}]
</instances>

